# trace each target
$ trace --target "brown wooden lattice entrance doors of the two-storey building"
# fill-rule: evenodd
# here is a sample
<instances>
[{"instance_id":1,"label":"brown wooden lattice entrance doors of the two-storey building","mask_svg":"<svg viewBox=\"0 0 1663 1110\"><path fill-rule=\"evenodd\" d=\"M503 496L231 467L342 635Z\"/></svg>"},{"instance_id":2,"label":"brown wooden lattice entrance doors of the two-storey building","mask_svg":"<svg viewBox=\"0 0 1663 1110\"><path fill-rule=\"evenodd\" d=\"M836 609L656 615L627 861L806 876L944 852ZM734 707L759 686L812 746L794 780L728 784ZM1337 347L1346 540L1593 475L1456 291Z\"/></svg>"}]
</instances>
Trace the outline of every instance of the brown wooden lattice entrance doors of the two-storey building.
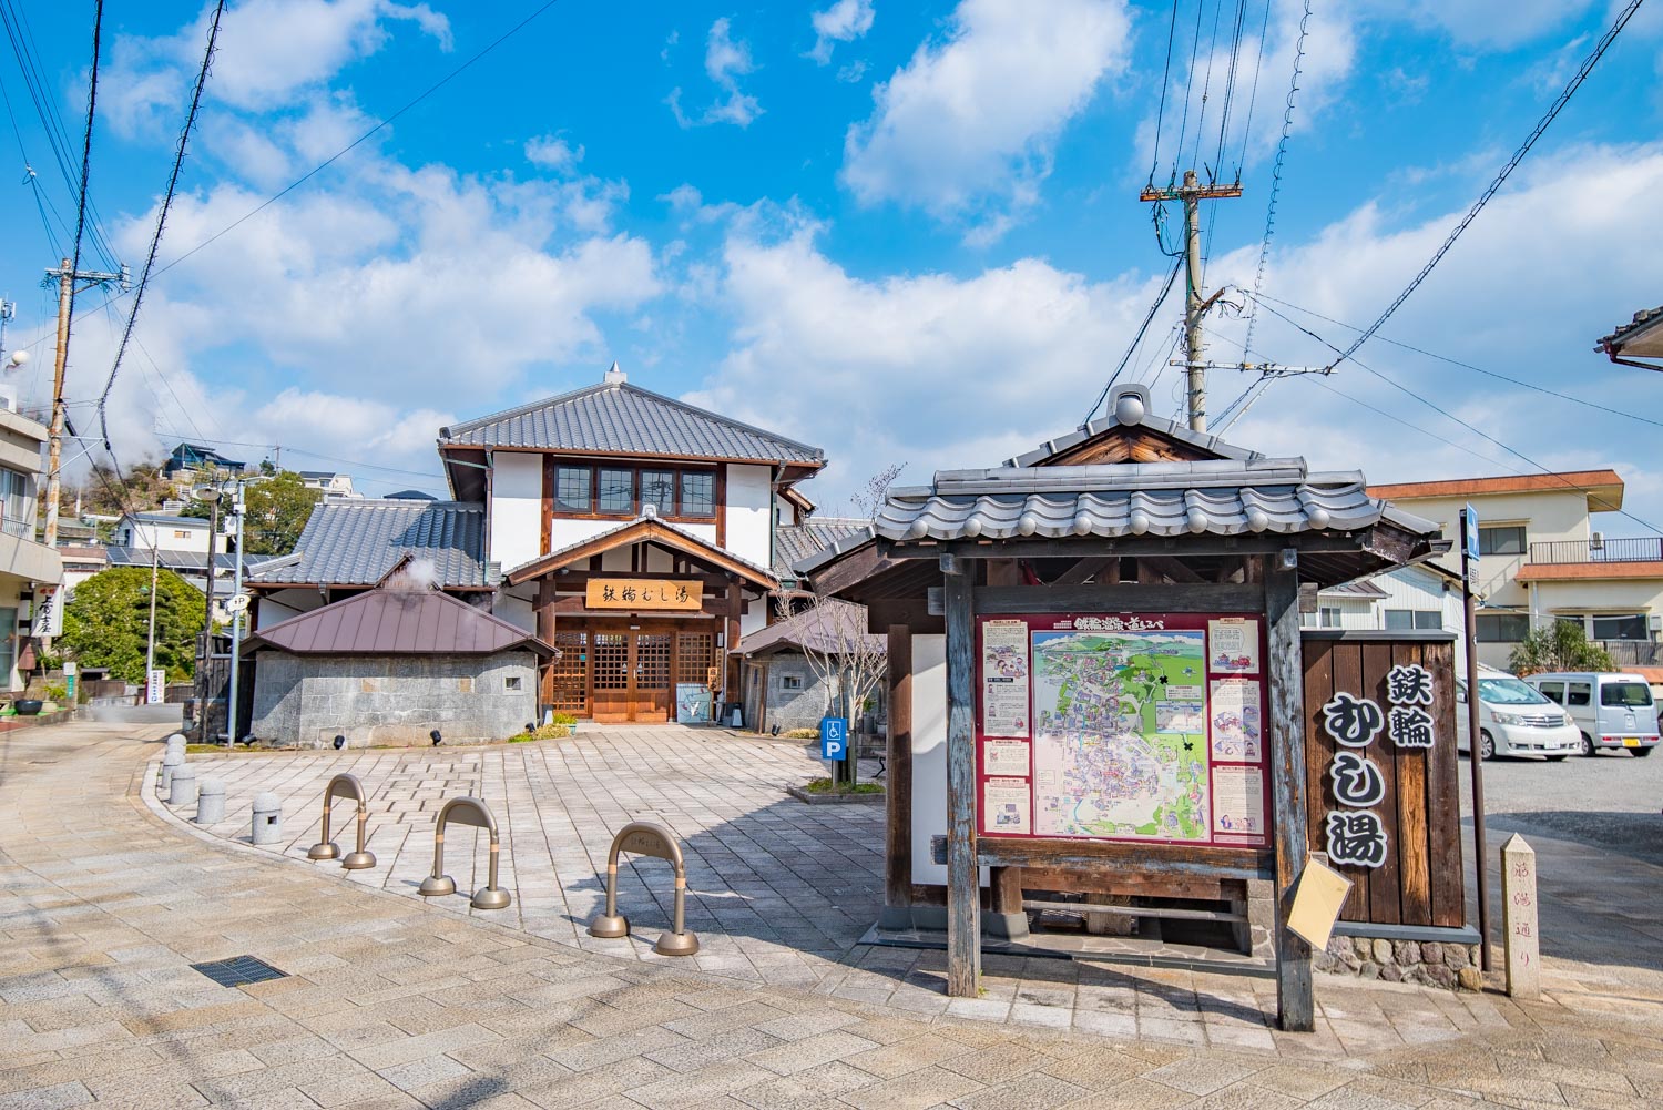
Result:
<instances>
[{"instance_id":1,"label":"brown wooden lattice entrance doors of the two-storey building","mask_svg":"<svg viewBox=\"0 0 1663 1110\"><path fill-rule=\"evenodd\" d=\"M679 682L717 679L715 636L670 622L567 627L554 644L554 709L599 722L672 721Z\"/></svg>"}]
</instances>

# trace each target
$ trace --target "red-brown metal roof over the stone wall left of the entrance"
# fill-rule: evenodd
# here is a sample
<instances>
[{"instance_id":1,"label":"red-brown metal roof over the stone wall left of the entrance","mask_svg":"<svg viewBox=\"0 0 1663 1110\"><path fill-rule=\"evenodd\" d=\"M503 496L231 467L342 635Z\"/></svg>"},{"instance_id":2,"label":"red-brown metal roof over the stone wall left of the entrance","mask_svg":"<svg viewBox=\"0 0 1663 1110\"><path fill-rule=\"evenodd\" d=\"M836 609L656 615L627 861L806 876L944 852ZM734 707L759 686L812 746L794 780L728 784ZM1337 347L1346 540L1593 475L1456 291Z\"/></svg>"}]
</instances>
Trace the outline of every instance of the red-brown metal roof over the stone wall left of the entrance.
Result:
<instances>
[{"instance_id":1,"label":"red-brown metal roof over the stone wall left of the entrance","mask_svg":"<svg viewBox=\"0 0 1663 1110\"><path fill-rule=\"evenodd\" d=\"M514 647L560 654L434 589L373 589L261 629L248 644L296 656L489 656Z\"/></svg>"}]
</instances>

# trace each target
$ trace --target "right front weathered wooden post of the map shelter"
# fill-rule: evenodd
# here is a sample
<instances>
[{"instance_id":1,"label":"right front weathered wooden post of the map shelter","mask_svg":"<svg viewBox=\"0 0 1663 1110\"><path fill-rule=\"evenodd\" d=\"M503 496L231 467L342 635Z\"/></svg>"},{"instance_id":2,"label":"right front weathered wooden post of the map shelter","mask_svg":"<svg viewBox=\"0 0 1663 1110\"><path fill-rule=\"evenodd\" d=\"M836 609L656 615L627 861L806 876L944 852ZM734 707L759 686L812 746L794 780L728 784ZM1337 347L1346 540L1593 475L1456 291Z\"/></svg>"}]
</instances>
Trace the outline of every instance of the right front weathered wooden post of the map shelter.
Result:
<instances>
[{"instance_id":1,"label":"right front weathered wooden post of the map shelter","mask_svg":"<svg viewBox=\"0 0 1663 1110\"><path fill-rule=\"evenodd\" d=\"M1271 824L1276 829L1276 1015L1282 1028L1315 1028L1310 945L1287 927L1294 884L1305 870L1305 674L1299 647L1299 572L1267 559L1264 574L1271 679Z\"/></svg>"}]
</instances>

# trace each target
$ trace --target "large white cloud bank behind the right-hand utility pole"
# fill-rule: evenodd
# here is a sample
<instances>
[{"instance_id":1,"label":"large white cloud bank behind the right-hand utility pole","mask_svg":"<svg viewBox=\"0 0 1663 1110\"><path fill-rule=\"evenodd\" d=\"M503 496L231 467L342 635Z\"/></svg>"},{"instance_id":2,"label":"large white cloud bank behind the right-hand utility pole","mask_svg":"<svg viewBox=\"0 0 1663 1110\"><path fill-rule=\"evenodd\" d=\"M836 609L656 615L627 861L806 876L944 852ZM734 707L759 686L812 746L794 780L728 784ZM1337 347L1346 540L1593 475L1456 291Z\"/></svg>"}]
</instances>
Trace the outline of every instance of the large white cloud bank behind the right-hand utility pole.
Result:
<instances>
[{"instance_id":1,"label":"large white cloud bank behind the right-hand utility pole","mask_svg":"<svg viewBox=\"0 0 1663 1110\"><path fill-rule=\"evenodd\" d=\"M1490 203L1385 334L1618 411L1656 413L1663 378L1613 366L1590 348L1633 310L1656 303L1663 231L1635 225L1631 213L1660 188L1663 143L1575 148L1535 163ZM1362 205L1277 251L1266 290L1367 325L1458 215L1405 226ZM825 446L833 468L815 496L828 503L858 484L860 471L885 463L906 461L916 478L991 466L1076 426L1164 278L1098 281L1023 260L968 276L868 280L827 258L815 236L805 225L773 236L743 220L733 225L720 275L737 321L732 349L695 399ZM1221 251L1209 285L1251 285L1256 263L1256 246ZM1156 343L1177 311L1174 296L1136 364L1161 363ZM1289 315L1339 344L1354 334ZM1239 358L1231 339L1241 339L1241 321L1211 318L1207 331L1216 359ZM1294 366L1332 358L1267 313L1256 353ZM1360 358L1545 466L1615 466L1630 476L1630 511L1663 528L1663 488L1645 481L1658 471L1651 429L1379 341ZM1214 414L1246 383L1214 371ZM1154 391L1162 416L1177 408L1174 384L1176 371L1162 368ZM1359 364L1271 386L1227 434L1272 454L1304 454L1314 468L1360 468L1374 481L1530 471ZM1601 524L1611 533L1643 528Z\"/></svg>"}]
</instances>

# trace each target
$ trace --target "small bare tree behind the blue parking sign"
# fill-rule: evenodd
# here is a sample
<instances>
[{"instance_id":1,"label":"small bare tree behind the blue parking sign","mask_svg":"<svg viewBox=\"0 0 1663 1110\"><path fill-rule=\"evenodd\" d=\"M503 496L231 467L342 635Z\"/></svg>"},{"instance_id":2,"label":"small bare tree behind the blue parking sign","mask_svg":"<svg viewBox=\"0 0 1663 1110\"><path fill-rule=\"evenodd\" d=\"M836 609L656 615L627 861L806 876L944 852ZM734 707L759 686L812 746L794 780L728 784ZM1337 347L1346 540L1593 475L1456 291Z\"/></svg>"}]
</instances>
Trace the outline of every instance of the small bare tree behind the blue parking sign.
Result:
<instances>
[{"instance_id":1,"label":"small bare tree behind the blue parking sign","mask_svg":"<svg viewBox=\"0 0 1663 1110\"><path fill-rule=\"evenodd\" d=\"M793 604L795 602L795 604ZM803 649L810 671L823 691L822 716L848 719L851 731L860 716L876 704L878 684L890 669L890 644L866 631L866 607L825 594L778 599L780 621L790 627L792 642ZM858 759L833 767L833 785L853 785Z\"/></svg>"}]
</instances>

